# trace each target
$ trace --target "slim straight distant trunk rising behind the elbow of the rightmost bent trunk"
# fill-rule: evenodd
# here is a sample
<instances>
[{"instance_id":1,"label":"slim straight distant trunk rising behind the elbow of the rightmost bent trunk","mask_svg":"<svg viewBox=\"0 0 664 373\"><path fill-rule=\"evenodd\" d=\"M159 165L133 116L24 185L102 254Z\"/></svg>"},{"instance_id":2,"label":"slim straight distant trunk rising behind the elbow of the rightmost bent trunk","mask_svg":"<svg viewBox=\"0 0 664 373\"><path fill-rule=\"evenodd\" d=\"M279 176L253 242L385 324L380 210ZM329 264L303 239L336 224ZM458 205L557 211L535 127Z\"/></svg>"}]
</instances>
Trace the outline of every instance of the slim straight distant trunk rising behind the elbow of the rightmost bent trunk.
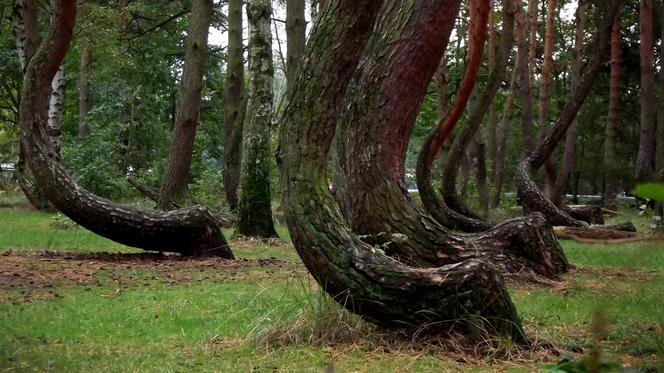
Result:
<instances>
[{"instance_id":1,"label":"slim straight distant trunk rising behind the elbow of the rightmost bent trunk","mask_svg":"<svg viewBox=\"0 0 664 373\"><path fill-rule=\"evenodd\" d=\"M530 0L534 2L534 0ZM523 156L530 154L534 147L533 138L533 101L531 92L531 75L528 63L528 23L523 9L519 7L516 12L516 43L517 43L517 69L516 86L521 102L521 128L523 141Z\"/></svg>"}]
</instances>

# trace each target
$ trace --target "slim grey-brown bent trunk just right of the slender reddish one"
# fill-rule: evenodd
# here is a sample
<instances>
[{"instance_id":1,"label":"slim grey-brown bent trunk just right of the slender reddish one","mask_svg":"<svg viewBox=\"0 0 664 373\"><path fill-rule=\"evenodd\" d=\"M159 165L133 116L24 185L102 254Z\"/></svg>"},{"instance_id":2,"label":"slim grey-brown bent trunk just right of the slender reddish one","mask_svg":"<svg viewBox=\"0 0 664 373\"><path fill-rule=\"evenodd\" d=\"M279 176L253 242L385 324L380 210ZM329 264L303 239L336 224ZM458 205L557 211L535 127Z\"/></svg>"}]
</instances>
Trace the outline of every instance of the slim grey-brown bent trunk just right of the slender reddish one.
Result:
<instances>
[{"instance_id":1,"label":"slim grey-brown bent trunk just right of the slender reddish one","mask_svg":"<svg viewBox=\"0 0 664 373\"><path fill-rule=\"evenodd\" d=\"M473 105L470 110L466 126L461 129L461 132L452 144L443 178L443 197L447 206L462 215L474 219L481 218L466 206L456 191L458 163L463 154L463 149L469 146L471 140L476 135L491 102L493 102L498 89L500 89L501 84L505 80L509 50L514 43L514 13L516 11L516 4L505 1L504 10L503 31L501 33L500 45L496 50L496 64L491 71L484 91L477 100L477 104ZM494 223L490 224L493 225Z\"/></svg>"}]
</instances>

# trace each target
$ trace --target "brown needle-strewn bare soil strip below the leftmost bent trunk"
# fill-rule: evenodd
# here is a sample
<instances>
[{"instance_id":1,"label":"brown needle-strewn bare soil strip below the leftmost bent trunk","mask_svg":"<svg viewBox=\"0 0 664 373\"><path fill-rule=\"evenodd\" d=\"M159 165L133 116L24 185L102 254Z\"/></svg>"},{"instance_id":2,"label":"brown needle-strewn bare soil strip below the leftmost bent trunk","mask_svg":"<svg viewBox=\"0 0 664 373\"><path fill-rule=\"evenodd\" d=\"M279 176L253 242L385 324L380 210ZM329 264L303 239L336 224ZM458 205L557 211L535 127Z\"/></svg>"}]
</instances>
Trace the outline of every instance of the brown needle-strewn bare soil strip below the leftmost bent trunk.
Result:
<instances>
[{"instance_id":1,"label":"brown needle-strewn bare soil strip below the leftmost bent trunk","mask_svg":"<svg viewBox=\"0 0 664 373\"><path fill-rule=\"evenodd\" d=\"M0 254L0 303L54 299L63 286L151 286L269 278L293 262L278 258L183 258L153 253ZM20 294L20 295L18 295Z\"/></svg>"}]
</instances>

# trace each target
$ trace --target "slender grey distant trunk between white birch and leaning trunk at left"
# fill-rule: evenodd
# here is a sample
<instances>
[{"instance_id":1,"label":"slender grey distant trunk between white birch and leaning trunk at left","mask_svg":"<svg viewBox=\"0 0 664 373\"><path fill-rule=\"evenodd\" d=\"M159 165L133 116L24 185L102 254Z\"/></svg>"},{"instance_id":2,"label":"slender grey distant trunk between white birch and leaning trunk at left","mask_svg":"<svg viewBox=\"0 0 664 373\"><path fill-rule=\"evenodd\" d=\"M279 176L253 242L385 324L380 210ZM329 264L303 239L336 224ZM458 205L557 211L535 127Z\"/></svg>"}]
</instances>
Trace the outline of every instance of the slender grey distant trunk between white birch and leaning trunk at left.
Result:
<instances>
[{"instance_id":1,"label":"slender grey distant trunk between white birch and leaning trunk at left","mask_svg":"<svg viewBox=\"0 0 664 373\"><path fill-rule=\"evenodd\" d=\"M79 5L79 14L88 17L89 5ZM81 43L81 62L79 65L79 95L78 95L78 135L86 137L90 135L90 110L92 109L91 75L92 64L92 40L85 35Z\"/></svg>"}]
</instances>

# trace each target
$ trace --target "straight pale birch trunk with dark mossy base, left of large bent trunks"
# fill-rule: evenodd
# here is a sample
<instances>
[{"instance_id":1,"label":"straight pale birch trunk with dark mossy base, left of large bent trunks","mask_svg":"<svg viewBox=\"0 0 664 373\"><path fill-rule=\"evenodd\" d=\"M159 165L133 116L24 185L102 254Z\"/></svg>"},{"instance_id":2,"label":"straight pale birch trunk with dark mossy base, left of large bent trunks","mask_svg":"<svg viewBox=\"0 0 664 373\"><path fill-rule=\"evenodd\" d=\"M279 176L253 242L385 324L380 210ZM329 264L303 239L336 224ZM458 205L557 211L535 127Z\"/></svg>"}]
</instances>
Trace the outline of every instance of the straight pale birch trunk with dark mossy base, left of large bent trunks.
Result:
<instances>
[{"instance_id":1,"label":"straight pale birch trunk with dark mossy base, left of large bent trunks","mask_svg":"<svg viewBox=\"0 0 664 373\"><path fill-rule=\"evenodd\" d=\"M249 116L244 126L240 205L236 232L251 237L276 237L272 222L270 156L272 151L272 33L270 0L251 0L249 19Z\"/></svg>"}]
</instances>

